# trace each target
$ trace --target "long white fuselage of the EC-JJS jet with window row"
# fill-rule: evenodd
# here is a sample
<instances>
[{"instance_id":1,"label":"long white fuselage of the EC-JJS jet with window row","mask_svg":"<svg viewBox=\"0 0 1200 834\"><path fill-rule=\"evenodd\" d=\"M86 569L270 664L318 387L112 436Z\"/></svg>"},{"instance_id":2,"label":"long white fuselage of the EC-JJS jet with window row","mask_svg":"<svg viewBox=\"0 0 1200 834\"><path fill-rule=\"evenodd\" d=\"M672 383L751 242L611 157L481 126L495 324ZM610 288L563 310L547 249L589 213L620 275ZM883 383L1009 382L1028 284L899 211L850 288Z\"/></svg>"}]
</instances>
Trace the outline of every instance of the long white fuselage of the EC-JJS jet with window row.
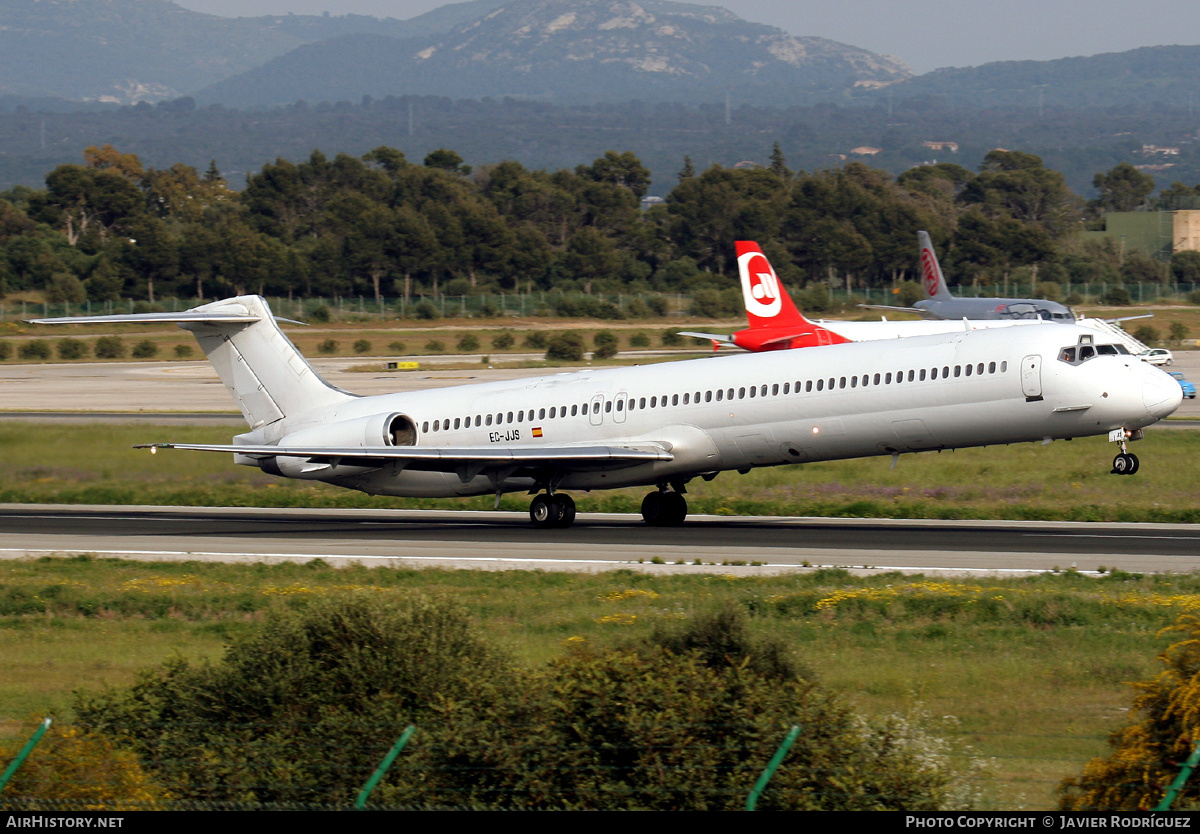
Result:
<instances>
[{"instance_id":1,"label":"long white fuselage of the EC-JJS jet with window row","mask_svg":"<svg viewBox=\"0 0 1200 834\"><path fill-rule=\"evenodd\" d=\"M1141 428L1178 406L1178 385L1128 354L1061 361L1081 336L1094 331L1006 328L358 397L238 442L272 444L306 430L403 414L416 446L630 443L658 444L672 456L575 468L557 482L560 490L598 490L758 466L1105 434ZM334 466L311 476L409 497L535 486L518 470L497 484L494 473L422 472L395 462Z\"/></svg>"}]
</instances>

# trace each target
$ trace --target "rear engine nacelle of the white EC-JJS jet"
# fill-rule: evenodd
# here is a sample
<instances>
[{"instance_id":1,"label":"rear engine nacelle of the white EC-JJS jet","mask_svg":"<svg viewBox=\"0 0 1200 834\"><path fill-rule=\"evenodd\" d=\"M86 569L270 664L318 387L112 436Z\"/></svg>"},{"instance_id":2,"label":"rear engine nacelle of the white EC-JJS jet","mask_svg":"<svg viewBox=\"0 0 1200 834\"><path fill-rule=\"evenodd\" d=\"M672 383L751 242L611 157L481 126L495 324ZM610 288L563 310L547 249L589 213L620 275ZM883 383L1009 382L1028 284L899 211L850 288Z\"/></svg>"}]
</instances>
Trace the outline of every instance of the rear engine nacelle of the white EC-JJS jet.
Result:
<instances>
[{"instance_id":1,"label":"rear engine nacelle of the white EC-JJS jet","mask_svg":"<svg viewBox=\"0 0 1200 834\"><path fill-rule=\"evenodd\" d=\"M341 420L324 426L312 426L283 437L278 445L313 449L370 449L372 446L412 446L416 444L416 425L407 414L371 414L354 420ZM378 467L364 467L306 457L277 455L258 461L259 468L283 478L331 480L353 478Z\"/></svg>"}]
</instances>

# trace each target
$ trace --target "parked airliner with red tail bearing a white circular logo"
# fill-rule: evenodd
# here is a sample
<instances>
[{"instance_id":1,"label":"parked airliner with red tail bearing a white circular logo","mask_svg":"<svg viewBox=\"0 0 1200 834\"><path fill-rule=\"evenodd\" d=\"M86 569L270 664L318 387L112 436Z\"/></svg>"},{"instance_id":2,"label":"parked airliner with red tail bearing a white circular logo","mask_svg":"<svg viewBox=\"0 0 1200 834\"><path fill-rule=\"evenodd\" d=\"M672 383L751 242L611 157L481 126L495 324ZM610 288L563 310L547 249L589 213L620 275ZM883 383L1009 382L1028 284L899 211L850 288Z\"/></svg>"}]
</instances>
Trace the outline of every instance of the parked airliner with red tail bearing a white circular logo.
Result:
<instances>
[{"instance_id":1,"label":"parked airliner with red tail bearing a white circular logo","mask_svg":"<svg viewBox=\"0 0 1200 834\"><path fill-rule=\"evenodd\" d=\"M746 308L746 319L750 326L728 336L690 331L680 331L680 336L709 340L714 350L721 346L738 347L744 350L786 350L818 344L929 336L959 330L986 330L1042 322L1042 319L1032 318L961 319L958 322L941 319L888 322L884 318L878 322L826 319L812 322L792 301L758 244L752 240L739 240L737 241L737 254L738 277L742 280L742 301Z\"/></svg>"}]
</instances>

